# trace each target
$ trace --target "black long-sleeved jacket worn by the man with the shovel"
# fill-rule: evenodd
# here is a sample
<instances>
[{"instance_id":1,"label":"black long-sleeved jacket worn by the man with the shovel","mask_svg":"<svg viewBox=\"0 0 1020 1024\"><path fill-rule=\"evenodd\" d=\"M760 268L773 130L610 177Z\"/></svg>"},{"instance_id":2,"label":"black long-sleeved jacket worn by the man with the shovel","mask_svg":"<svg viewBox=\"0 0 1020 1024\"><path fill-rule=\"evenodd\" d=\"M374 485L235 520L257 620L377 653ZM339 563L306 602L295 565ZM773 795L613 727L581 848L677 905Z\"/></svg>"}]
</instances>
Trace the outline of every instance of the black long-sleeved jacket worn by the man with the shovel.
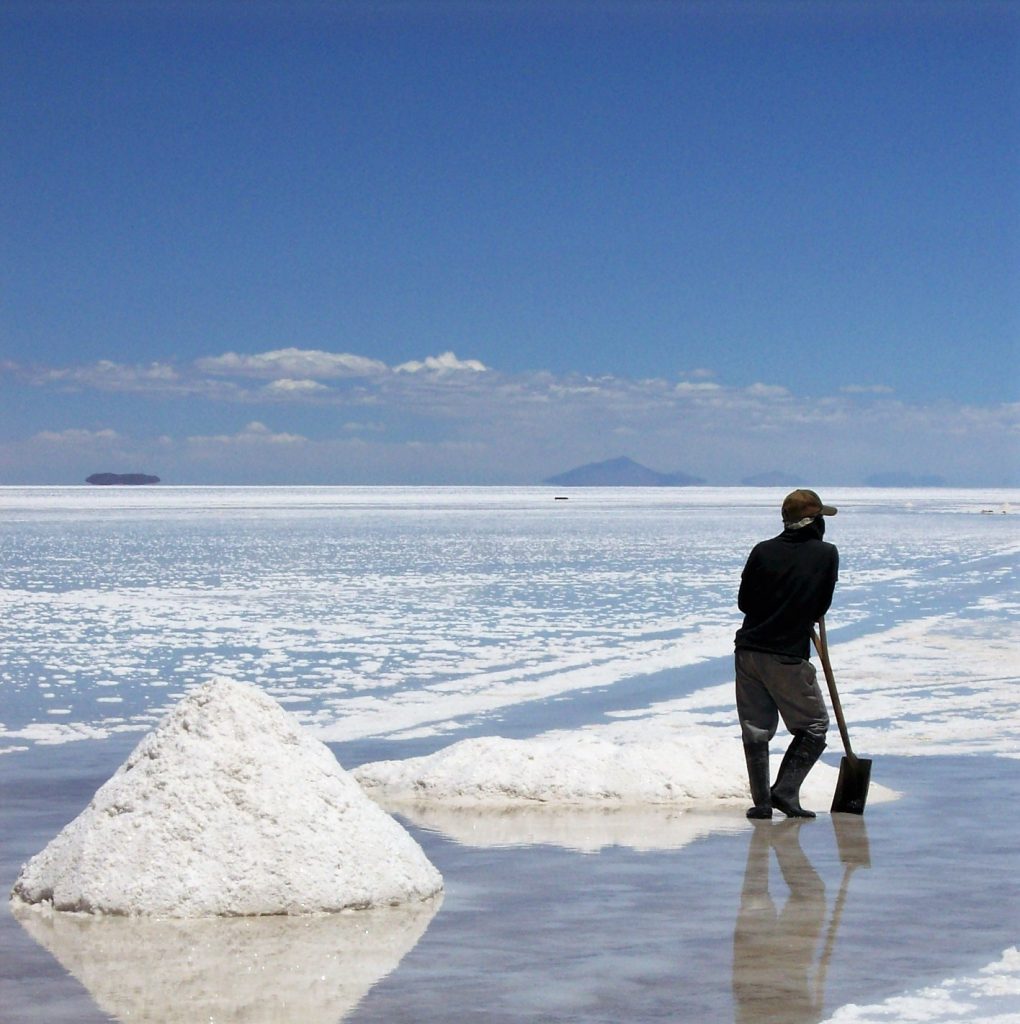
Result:
<instances>
[{"instance_id":1,"label":"black long-sleeved jacket worn by the man with the shovel","mask_svg":"<svg viewBox=\"0 0 1020 1024\"><path fill-rule=\"evenodd\" d=\"M823 532L823 524L811 523L752 549L736 600L743 612L737 648L810 656L811 627L833 602L840 568L839 552L821 540Z\"/></svg>"}]
</instances>

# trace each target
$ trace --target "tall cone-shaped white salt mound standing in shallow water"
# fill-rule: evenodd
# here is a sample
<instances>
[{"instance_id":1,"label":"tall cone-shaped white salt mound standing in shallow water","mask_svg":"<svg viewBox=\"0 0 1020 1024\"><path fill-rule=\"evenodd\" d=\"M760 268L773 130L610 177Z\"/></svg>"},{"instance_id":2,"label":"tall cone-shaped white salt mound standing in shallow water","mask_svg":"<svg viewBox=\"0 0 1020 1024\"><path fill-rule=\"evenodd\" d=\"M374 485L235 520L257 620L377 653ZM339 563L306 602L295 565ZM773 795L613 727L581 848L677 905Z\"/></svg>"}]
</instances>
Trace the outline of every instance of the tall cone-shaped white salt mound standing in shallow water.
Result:
<instances>
[{"instance_id":1,"label":"tall cone-shaped white salt mound standing in shallow water","mask_svg":"<svg viewBox=\"0 0 1020 1024\"><path fill-rule=\"evenodd\" d=\"M442 889L411 836L254 686L218 679L146 735L11 896L168 918L395 905Z\"/></svg>"}]
</instances>

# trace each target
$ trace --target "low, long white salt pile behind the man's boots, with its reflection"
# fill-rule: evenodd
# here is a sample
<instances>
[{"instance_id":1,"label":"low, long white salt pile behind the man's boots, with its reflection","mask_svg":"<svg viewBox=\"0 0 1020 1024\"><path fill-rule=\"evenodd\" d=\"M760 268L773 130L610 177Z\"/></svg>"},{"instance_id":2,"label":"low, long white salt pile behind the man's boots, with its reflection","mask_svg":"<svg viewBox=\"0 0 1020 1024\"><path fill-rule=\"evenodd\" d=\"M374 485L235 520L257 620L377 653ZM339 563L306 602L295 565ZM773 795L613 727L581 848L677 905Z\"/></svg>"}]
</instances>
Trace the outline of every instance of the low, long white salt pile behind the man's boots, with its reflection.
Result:
<instances>
[{"instance_id":1,"label":"low, long white salt pile behind the man's boots, with its reflection","mask_svg":"<svg viewBox=\"0 0 1020 1024\"><path fill-rule=\"evenodd\" d=\"M781 755L777 741L773 775ZM816 765L802 790L806 806L827 809L838 774ZM353 775L382 806L470 846L667 850L747 826L742 748L717 728L642 722L532 739L484 736ZM870 801L896 796L876 783Z\"/></svg>"}]
</instances>

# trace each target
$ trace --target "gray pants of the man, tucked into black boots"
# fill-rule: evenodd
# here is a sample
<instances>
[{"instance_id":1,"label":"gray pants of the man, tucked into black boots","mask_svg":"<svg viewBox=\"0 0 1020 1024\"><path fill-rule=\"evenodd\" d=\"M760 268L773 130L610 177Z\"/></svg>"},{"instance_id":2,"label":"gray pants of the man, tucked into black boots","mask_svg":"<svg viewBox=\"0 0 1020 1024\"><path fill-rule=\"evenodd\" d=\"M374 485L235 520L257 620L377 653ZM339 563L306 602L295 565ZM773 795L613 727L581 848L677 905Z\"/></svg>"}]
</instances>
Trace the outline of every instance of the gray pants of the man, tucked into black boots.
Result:
<instances>
[{"instance_id":1,"label":"gray pants of the man, tucked into black boots","mask_svg":"<svg viewBox=\"0 0 1020 1024\"><path fill-rule=\"evenodd\" d=\"M824 736L828 712L814 666L799 657L738 649L736 713L746 743L768 742L782 716L790 732Z\"/></svg>"}]
</instances>

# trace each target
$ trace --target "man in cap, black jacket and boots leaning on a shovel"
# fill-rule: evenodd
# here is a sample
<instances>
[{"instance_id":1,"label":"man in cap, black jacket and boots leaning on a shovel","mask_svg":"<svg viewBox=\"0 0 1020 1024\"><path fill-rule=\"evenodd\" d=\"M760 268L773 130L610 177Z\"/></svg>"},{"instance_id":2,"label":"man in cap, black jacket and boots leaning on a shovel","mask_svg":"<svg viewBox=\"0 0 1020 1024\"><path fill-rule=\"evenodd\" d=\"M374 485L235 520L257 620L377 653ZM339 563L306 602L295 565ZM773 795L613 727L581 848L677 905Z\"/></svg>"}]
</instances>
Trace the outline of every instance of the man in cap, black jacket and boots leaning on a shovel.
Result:
<instances>
[{"instance_id":1,"label":"man in cap, black jacket and boots leaning on a shovel","mask_svg":"<svg viewBox=\"0 0 1020 1024\"><path fill-rule=\"evenodd\" d=\"M782 503L783 530L755 545L740 577L736 632L736 711L754 806L749 818L813 818L800 803L801 783L825 749L828 714L810 656L811 630L828 610L839 575L839 552L822 540L823 505L813 490L794 490ZM768 744L779 716L793 735L769 786Z\"/></svg>"}]
</instances>

